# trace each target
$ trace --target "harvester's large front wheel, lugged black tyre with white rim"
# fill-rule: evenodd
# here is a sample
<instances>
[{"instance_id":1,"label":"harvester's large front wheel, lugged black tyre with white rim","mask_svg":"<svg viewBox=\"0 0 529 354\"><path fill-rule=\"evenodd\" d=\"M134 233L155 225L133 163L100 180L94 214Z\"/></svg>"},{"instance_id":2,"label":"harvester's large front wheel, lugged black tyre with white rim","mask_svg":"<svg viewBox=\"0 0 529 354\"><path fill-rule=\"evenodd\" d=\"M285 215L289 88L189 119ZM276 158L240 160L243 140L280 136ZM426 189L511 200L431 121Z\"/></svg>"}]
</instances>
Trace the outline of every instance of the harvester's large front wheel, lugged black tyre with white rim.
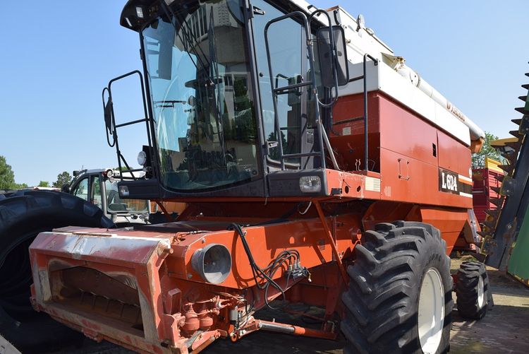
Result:
<instances>
[{"instance_id":1,"label":"harvester's large front wheel, lugged black tyre with white rim","mask_svg":"<svg viewBox=\"0 0 529 354\"><path fill-rule=\"evenodd\" d=\"M425 223L380 223L355 247L343 293L345 353L446 353L452 278L446 244Z\"/></svg>"}]
</instances>

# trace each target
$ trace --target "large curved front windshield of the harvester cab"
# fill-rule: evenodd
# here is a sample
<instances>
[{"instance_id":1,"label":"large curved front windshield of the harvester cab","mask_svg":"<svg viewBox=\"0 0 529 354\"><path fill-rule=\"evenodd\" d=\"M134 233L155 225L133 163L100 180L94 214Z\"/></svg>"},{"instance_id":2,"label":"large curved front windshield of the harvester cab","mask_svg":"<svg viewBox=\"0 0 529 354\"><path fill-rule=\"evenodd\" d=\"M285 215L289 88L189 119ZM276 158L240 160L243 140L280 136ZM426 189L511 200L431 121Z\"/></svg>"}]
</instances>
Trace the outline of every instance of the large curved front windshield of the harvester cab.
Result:
<instances>
[{"instance_id":1,"label":"large curved front windshield of the harvester cab","mask_svg":"<svg viewBox=\"0 0 529 354\"><path fill-rule=\"evenodd\" d=\"M142 31L162 183L197 190L257 179L253 88L239 1L177 3L169 17Z\"/></svg>"}]
</instances>

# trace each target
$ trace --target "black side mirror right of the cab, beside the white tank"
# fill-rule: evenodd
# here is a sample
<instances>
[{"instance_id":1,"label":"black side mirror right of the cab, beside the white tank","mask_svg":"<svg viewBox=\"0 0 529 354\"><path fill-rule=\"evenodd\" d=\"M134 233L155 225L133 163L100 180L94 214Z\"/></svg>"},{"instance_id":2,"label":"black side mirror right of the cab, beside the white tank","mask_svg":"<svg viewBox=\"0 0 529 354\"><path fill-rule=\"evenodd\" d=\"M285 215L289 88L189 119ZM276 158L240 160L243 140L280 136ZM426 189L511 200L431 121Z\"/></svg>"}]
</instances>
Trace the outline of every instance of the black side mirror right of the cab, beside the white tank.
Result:
<instances>
[{"instance_id":1,"label":"black side mirror right of the cab, beside the white tank","mask_svg":"<svg viewBox=\"0 0 529 354\"><path fill-rule=\"evenodd\" d=\"M334 47L336 48L336 61L334 61L334 55L331 52L331 28L334 36ZM322 27L317 30L316 39L322 85L326 88L334 87L333 62L336 62L336 78L338 79L338 85L347 85L349 81L349 67L347 61L346 36L343 32L343 28L339 25Z\"/></svg>"}]
</instances>

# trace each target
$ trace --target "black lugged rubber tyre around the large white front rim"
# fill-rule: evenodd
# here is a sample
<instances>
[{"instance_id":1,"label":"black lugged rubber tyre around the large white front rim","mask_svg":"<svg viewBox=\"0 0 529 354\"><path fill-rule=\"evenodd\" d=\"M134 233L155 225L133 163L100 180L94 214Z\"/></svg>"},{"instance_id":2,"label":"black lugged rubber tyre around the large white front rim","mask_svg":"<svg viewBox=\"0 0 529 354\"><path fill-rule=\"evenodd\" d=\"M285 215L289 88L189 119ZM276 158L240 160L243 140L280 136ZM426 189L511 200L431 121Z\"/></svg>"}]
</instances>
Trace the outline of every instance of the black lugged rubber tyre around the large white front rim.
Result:
<instances>
[{"instance_id":1,"label":"black lugged rubber tyre around the large white front rim","mask_svg":"<svg viewBox=\"0 0 529 354\"><path fill-rule=\"evenodd\" d=\"M446 321L451 323L451 277L449 258L439 231L423 223L381 223L365 232L366 242L355 247L355 264L348 266L351 278L343 293L346 317L342 331L348 343L345 353L415 353L420 351L413 335L416 315L408 309L418 301L423 269L413 265L434 250L440 254L446 273ZM448 348L442 343L440 352Z\"/></svg>"}]
</instances>

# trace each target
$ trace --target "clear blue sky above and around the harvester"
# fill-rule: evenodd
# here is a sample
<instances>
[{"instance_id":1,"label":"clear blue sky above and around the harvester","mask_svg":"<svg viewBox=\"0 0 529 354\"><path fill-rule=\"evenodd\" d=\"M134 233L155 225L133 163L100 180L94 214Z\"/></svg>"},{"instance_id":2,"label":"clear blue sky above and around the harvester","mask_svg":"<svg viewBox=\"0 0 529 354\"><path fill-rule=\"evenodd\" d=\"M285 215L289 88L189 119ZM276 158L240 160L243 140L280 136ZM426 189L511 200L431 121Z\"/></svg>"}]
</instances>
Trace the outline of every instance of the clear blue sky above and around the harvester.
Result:
<instances>
[{"instance_id":1,"label":"clear blue sky above and around the harvester","mask_svg":"<svg viewBox=\"0 0 529 354\"><path fill-rule=\"evenodd\" d=\"M101 90L140 69L138 35L119 25L126 1L4 1L0 39L0 155L16 182L53 182L66 170L116 166ZM340 4L482 129L505 137L529 83L526 1L312 1ZM8 14L8 16L5 16ZM140 113L135 81L122 83L118 116ZM116 87L116 90L118 88ZM127 98L129 98L127 100ZM129 159L143 130L120 136ZM128 138L130 136L130 138Z\"/></svg>"}]
</instances>

